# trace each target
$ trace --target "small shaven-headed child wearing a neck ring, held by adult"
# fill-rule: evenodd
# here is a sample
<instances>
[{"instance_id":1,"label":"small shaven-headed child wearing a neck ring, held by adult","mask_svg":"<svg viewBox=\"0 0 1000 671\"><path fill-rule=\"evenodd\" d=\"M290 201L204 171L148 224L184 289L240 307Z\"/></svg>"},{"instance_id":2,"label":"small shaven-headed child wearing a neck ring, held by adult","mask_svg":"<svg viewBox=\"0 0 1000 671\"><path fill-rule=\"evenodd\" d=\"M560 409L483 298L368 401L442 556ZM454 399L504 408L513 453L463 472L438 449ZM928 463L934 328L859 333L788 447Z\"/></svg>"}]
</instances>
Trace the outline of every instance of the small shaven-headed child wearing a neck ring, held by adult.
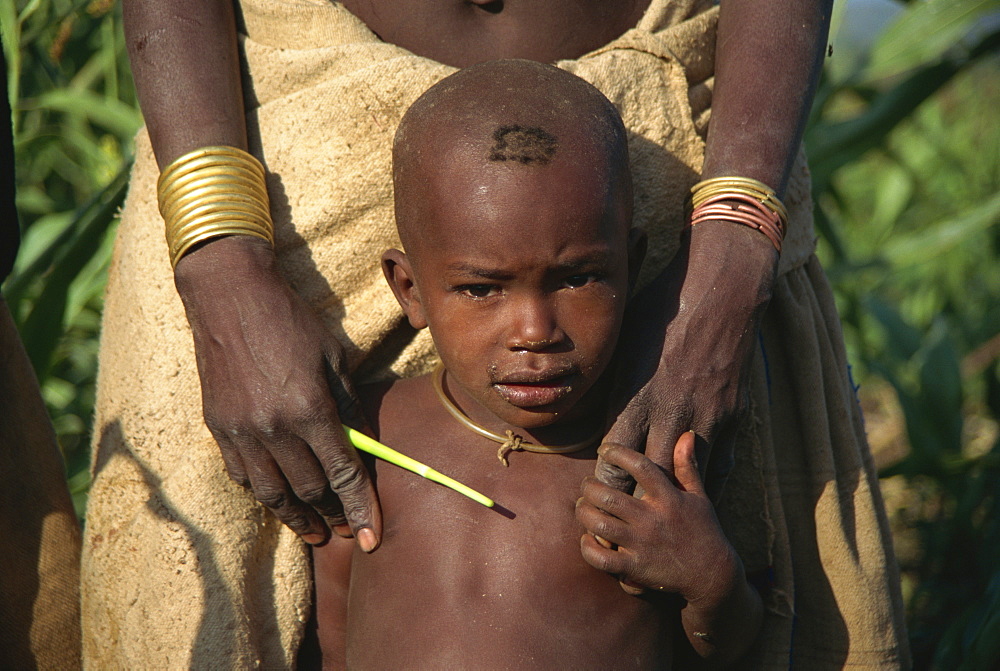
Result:
<instances>
[{"instance_id":1,"label":"small shaven-headed child wearing a neck ring, held by adult","mask_svg":"<svg viewBox=\"0 0 1000 671\"><path fill-rule=\"evenodd\" d=\"M314 549L324 667L670 668L685 650L741 654L760 601L690 434L672 477L600 447L641 498L591 477L645 246L614 107L556 68L486 63L418 99L393 156L406 253L382 265L443 368L362 400L379 440L497 506L369 463L381 547Z\"/></svg>"}]
</instances>

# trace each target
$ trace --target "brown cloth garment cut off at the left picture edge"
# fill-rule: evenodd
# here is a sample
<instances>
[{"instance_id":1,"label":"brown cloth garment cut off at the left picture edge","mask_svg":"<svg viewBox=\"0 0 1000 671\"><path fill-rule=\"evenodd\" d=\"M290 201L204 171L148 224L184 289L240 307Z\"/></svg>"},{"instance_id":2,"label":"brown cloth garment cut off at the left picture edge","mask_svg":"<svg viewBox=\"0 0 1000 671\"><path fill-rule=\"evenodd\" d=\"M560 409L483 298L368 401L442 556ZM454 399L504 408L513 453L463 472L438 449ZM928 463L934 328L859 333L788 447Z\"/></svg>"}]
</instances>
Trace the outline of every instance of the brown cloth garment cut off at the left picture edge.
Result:
<instances>
[{"instance_id":1,"label":"brown cloth garment cut off at the left picture edge","mask_svg":"<svg viewBox=\"0 0 1000 671\"><path fill-rule=\"evenodd\" d=\"M80 527L35 372L0 298L0 669L80 668Z\"/></svg>"}]
</instances>

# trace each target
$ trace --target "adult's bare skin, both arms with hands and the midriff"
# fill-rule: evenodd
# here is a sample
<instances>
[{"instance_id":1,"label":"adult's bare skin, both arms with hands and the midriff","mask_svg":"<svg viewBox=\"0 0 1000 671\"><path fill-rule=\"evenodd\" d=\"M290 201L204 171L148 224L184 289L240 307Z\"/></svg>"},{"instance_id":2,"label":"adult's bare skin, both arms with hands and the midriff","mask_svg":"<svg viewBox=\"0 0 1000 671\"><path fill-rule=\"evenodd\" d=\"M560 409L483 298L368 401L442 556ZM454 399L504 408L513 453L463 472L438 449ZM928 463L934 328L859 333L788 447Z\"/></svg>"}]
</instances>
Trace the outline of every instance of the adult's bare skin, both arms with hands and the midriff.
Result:
<instances>
[{"instance_id":1,"label":"adult's bare skin, both arms with hands and the midriff","mask_svg":"<svg viewBox=\"0 0 1000 671\"><path fill-rule=\"evenodd\" d=\"M467 65L580 56L634 25L645 4L374 0L348 6L386 39ZM752 177L781 194L822 60L829 9L830 0L722 3L705 177ZM205 145L245 147L230 2L125 0L124 10L160 166ZM677 437L688 429L698 436L703 463L709 448L731 449L776 261L770 243L752 230L718 224L692 232L640 299L656 318L629 331L623 351L630 353L630 373L610 396L609 441L645 451L667 469ZM322 542L346 515L362 548L374 549L381 536L378 500L338 431L341 420L362 422L342 350L276 271L273 252L256 239L217 239L187 254L175 279L195 338L206 422L230 476L252 487L306 541ZM289 328L275 333L275 319ZM213 346L219 343L225 346ZM625 487L620 475L598 468L599 477Z\"/></svg>"}]
</instances>

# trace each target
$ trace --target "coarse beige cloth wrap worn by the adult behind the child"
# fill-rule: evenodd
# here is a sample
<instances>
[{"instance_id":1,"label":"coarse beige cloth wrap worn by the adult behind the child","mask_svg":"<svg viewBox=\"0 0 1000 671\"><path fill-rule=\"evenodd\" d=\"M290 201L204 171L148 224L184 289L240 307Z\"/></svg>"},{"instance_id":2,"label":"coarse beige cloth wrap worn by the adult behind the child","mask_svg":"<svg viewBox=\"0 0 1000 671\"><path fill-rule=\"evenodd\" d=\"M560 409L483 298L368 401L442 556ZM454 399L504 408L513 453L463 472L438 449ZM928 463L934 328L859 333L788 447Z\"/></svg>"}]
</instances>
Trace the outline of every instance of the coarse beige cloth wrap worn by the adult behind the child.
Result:
<instances>
[{"instance_id":1,"label":"coarse beige cloth wrap worn by the adult behind the child","mask_svg":"<svg viewBox=\"0 0 1000 671\"><path fill-rule=\"evenodd\" d=\"M614 43L558 65L600 88L629 128L641 282L663 269L698 180L714 9L654 0ZM453 68L379 41L339 5L244 0L251 152L267 169L283 274L347 348L361 381L425 372L378 260L398 245L390 147L403 112ZM148 137L112 262L102 335L94 485L82 588L93 668L291 667L310 616L308 552L233 485L205 428L191 334L173 287ZM905 663L895 560L812 258L809 176L785 194L789 230L763 327L752 418L722 518L751 569L773 566L755 668ZM770 400L769 400L770 398Z\"/></svg>"}]
</instances>

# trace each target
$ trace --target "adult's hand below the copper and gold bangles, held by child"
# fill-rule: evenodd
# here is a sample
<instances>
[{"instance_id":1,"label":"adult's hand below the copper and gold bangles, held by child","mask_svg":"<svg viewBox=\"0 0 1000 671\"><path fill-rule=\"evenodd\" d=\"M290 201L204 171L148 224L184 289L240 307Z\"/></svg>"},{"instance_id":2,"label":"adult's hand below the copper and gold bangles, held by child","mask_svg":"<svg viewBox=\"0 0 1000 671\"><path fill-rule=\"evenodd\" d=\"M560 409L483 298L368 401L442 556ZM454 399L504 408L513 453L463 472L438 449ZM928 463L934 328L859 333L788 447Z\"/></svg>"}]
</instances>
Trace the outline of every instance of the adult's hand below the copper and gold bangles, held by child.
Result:
<instances>
[{"instance_id":1,"label":"adult's hand below the copper and gold bangles, held by child","mask_svg":"<svg viewBox=\"0 0 1000 671\"><path fill-rule=\"evenodd\" d=\"M674 444L693 430L714 496L731 467L776 265L771 243L749 227L713 221L690 229L667 269L629 304L605 442L643 452L669 473ZM596 475L621 491L632 485L605 459Z\"/></svg>"}]
</instances>

